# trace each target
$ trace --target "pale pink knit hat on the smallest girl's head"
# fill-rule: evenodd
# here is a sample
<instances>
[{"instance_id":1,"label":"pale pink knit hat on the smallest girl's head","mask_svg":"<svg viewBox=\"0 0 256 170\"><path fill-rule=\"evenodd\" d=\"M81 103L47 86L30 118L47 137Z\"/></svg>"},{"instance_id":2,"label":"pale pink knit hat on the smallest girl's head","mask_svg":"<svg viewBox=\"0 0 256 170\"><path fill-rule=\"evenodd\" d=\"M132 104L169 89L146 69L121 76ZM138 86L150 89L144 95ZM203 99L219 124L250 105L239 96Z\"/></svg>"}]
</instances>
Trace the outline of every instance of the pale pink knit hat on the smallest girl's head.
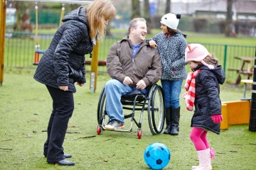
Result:
<instances>
[{"instance_id":1,"label":"pale pink knit hat on the smallest girl's head","mask_svg":"<svg viewBox=\"0 0 256 170\"><path fill-rule=\"evenodd\" d=\"M214 69L214 66L211 64L207 64L203 61L205 57L210 55L206 47L201 44L189 44L185 50L185 61L186 62L201 62L203 65L208 67L209 69Z\"/></svg>"}]
</instances>

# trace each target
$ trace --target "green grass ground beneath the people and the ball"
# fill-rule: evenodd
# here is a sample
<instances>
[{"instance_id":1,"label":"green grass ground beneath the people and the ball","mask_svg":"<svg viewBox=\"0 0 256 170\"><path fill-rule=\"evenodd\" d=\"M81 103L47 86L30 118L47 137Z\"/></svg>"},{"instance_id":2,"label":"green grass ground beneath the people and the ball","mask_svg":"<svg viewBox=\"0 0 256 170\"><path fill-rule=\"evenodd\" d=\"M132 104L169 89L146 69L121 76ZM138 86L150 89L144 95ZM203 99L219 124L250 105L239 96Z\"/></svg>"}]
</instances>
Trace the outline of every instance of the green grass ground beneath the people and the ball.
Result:
<instances>
[{"instance_id":1,"label":"green grass ground beneath the people and the ball","mask_svg":"<svg viewBox=\"0 0 256 170\"><path fill-rule=\"evenodd\" d=\"M103 131L96 135L97 101L100 91L109 79L100 74L95 93L90 93L90 74L87 84L77 87L75 111L65 137L66 153L73 154L75 166L55 166L46 163L43 143L46 140L51 99L46 86L33 79L34 69L6 70L0 86L0 169L149 169L144 163L144 149L152 142L161 142L171 151L171 162L164 169L190 169L198 164L196 150L189 134L192 113L186 111L181 99L180 133L178 136L151 135L146 112L142 122L142 139L133 131ZM184 91L181 92L183 94ZM247 96L250 96L247 91ZM222 101L242 98L242 85L221 86ZM127 124L129 125L129 124ZM88 137L95 136L95 137ZM88 137L88 138L86 138ZM256 167L256 133L248 125L230 125L220 135L208 133L210 145L215 148L213 169L252 170Z\"/></svg>"}]
</instances>

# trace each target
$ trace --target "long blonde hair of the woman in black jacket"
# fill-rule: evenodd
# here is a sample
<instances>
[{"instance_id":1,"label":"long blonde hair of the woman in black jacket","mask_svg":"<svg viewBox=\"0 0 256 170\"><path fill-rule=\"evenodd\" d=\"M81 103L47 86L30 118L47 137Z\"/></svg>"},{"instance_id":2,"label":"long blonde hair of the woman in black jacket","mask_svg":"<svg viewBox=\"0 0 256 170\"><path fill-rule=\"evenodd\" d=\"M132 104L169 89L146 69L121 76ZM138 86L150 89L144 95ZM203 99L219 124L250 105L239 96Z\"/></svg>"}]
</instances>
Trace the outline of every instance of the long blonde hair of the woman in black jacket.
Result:
<instances>
[{"instance_id":1,"label":"long blonde hair of the woman in black jacket","mask_svg":"<svg viewBox=\"0 0 256 170\"><path fill-rule=\"evenodd\" d=\"M95 0L87 6L86 13L90 27L90 38L95 38L98 34L100 40L102 40L106 33L104 20L113 19L116 13L112 1Z\"/></svg>"}]
</instances>

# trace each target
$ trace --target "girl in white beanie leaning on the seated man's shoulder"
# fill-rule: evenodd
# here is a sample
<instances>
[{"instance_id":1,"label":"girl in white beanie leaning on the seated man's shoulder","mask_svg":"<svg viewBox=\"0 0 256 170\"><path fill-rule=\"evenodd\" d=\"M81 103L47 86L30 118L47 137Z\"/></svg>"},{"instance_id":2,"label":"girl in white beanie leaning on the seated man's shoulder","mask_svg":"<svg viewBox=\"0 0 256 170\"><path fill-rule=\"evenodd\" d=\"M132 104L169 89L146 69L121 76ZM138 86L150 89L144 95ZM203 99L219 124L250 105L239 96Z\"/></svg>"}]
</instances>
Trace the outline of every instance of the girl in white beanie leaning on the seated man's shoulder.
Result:
<instances>
[{"instance_id":1,"label":"girl in white beanie leaning on the seated man's shoulder","mask_svg":"<svg viewBox=\"0 0 256 170\"><path fill-rule=\"evenodd\" d=\"M164 134L178 135L181 86L186 79L186 35L178 30L180 14L167 13L161 18L161 33L149 39L151 47L157 47L161 57L161 85L164 91L166 130Z\"/></svg>"}]
</instances>

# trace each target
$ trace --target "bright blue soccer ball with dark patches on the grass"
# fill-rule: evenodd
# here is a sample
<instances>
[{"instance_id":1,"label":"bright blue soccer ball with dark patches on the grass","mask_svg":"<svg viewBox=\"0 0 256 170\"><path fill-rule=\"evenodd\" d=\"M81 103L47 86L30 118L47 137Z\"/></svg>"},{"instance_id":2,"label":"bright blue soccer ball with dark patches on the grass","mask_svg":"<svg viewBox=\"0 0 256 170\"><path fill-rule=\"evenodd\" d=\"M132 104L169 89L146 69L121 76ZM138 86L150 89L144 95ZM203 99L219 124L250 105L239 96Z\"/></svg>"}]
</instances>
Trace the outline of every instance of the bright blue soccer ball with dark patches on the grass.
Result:
<instances>
[{"instance_id":1,"label":"bright blue soccer ball with dark patches on the grass","mask_svg":"<svg viewBox=\"0 0 256 170\"><path fill-rule=\"evenodd\" d=\"M163 169L171 159L171 152L162 143L152 143L146 147L144 160L151 169Z\"/></svg>"}]
</instances>

